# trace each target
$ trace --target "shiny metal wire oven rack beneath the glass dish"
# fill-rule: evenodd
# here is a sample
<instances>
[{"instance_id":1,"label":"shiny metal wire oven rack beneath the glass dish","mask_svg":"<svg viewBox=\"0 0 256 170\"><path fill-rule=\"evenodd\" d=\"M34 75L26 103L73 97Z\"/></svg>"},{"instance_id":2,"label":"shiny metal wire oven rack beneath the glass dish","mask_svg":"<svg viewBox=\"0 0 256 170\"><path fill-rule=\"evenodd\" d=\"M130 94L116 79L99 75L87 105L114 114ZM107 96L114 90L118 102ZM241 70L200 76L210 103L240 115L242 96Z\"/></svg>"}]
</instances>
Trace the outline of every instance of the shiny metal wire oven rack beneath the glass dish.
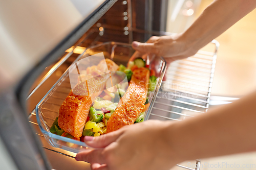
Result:
<instances>
[{"instance_id":1,"label":"shiny metal wire oven rack beneath the glass dish","mask_svg":"<svg viewBox=\"0 0 256 170\"><path fill-rule=\"evenodd\" d=\"M87 35L82 37L82 40L80 40L76 45L82 46L81 44L84 44L85 41L90 39L90 36L92 36L93 33L95 33L95 30L91 30L91 32L87 33ZM94 37L94 43L90 45L94 45L98 39L99 36ZM215 72L217 51L219 48L219 43L216 40L213 40L212 44L215 46L214 52L199 51L192 57L170 63L165 74L166 80L162 82L162 86L158 92L153 109L150 114L148 114L147 118L180 121L207 111ZM29 94L28 99L34 94L34 92L39 90L39 88L52 76L52 74L63 63L67 62L72 55L74 55L74 51L63 56L39 81L36 87ZM74 153L53 148L44 140L44 136L40 132L36 122L35 109L29 113L28 118L29 122L35 128L37 135L42 139L42 147L44 149L75 158ZM195 169L183 165L177 166L190 170L199 170L200 159L196 160Z\"/></svg>"}]
</instances>

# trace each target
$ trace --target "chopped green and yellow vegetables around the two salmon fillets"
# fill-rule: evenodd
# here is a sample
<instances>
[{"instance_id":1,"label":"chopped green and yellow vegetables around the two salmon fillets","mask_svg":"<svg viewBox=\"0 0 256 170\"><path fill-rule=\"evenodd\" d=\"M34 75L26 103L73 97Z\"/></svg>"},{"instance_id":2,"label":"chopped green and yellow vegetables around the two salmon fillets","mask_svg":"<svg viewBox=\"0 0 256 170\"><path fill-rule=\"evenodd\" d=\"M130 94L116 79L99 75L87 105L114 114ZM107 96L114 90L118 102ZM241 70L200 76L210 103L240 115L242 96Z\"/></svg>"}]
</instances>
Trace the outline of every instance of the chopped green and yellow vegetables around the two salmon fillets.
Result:
<instances>
[{"instance_id":1,"label":"chopped green and yellow vegetables around the two salmon fillets","mask_svg":"<svg viewBox=\"0 0 256 170\"><path fill-rule=\"evenodd\" d=\"M124 65L119 65L119 71L124 72L126 75L128 83L131 80L133 75L133 70L140 67L147 67L145 61L142 58L137 58L134 61L130 61L128 67L126 68ZM157 78L155 77L154 70L150 70L150 80L148 85L148 91L154 91L156 88ZM86 121L86 125L83 128L82 136L80 140L83 141L84 136L100 136L106 133L106 127L108 126L108 120L112 113L117 108L119 100L124 95L126 89L129 84L127 82L118 84L119 88L110 88L105 89L102 93L96 98L93 102L93 105L90 108L89 115ZM149 92L148 92L149 94ZM150 103L148 98L145 102L145 108L142 110L135 123L143 122L144 113L149 107ZM65 136L68 138L73 138L72 135L64 132L58 126L58 117L54 120L52 127L50 129L51 133ZM75 138L73 138L75 139ZM79 140L79 139L76 139Z\"/></svg>"}]
</instances>

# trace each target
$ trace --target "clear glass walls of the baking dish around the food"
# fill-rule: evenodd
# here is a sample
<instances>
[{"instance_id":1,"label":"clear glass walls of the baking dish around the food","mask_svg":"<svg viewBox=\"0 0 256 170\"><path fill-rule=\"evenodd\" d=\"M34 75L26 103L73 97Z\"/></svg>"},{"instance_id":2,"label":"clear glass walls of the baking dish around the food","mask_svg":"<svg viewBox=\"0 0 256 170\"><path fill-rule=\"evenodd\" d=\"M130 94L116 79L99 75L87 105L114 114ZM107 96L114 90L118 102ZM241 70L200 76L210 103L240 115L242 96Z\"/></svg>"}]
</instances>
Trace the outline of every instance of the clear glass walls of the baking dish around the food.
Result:
<instances>
[{"instance_id":1,"label":"clear glass walls of the baking dish around the food","mask_svg":"<svg viewBox=\"0 0 256 170\"><path fill-rule=\"evenodd\" d=\"M99 45L87 48L73 63L84 59L88 56L103 52L104 58L113 60L116 64L127 65L129 59L134 54L134 50L130 44L119 42L105 42ZM163 76L166 70L165 60L154 58L150 61L150 68L154 69L157 77L157 86L149 95L150 106L144 114L144 119L148 119L153 103L157 98L157 92L161 86ZM67 137L59 136L50 132L50 128L58 116L58 111L63 101L71 90L69 79L69 68L63 73L60 79L53 85L48 93L41 99L36 106L36 119L41 132L45 139L56 148L78 153L88 146L82 142Z\"/></svg>"}]
</instances>

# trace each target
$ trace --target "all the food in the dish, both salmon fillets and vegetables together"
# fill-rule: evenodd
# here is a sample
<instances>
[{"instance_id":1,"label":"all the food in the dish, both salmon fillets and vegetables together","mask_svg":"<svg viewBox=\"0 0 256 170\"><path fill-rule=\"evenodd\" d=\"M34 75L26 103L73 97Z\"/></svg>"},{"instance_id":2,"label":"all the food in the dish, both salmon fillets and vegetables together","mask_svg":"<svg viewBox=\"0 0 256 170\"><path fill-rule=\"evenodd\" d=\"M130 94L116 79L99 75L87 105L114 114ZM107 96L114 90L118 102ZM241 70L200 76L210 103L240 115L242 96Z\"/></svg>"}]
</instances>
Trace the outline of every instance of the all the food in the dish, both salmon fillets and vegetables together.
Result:
<instances>
[{"instance_id":1,"label":"all the food in the dish, both salmon fillets and vegetables together","mask_svg":"<svg viewBox=\"0 0 256 170\"><path fill-rule=\"evenodd\" d=\"M102 74L106 71L102 70L103 61L82 71L80 78L87 78L87 81L78 83L71 90L62 103L59 116L50 132L83 140L83 136L99 136L125 125L142 122L144 111L149 106L147 91L155 89L156 77L154 71L146 68L141 58L136 60L130 62L126 68L122 64L118 66L112 60L105 59L109 71L118 70L117 75L122 72L128 81L107 89L104 87L113 83L115 76L112 75L111 79L108 79L108 74ZM97 92L88 94L95 90ZM77 95L77 91L87 91L87 94Z\"/></svg>"}]
</instances>

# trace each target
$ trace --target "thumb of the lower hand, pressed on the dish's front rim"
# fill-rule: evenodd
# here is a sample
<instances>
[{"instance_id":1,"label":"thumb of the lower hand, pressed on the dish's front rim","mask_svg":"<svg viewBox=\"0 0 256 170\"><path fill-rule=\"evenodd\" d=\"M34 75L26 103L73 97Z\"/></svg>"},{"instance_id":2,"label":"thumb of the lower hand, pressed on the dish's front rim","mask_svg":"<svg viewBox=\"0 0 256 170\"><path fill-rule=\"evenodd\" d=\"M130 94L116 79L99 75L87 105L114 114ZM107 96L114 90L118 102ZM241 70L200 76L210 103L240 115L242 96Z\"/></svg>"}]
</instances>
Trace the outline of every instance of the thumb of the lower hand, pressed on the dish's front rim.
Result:
<instances>
[{"instance_id":1,"label":"thumb of the lower hand, pressed on the dish's front rim","mask_svg":"<svg viewBox=\"0 0 256 170\"><path fill-rule=\"evenodd\" d=\"M104 134L98 137L93 137L93 136L85 136L84 137L84 142L86 142L87 145L93 148L105 148L108 146L110 143L116 141L119 136L123 134L123 131L114 131L110 132L108 134Z\"/></svg>"}]
</instances>

